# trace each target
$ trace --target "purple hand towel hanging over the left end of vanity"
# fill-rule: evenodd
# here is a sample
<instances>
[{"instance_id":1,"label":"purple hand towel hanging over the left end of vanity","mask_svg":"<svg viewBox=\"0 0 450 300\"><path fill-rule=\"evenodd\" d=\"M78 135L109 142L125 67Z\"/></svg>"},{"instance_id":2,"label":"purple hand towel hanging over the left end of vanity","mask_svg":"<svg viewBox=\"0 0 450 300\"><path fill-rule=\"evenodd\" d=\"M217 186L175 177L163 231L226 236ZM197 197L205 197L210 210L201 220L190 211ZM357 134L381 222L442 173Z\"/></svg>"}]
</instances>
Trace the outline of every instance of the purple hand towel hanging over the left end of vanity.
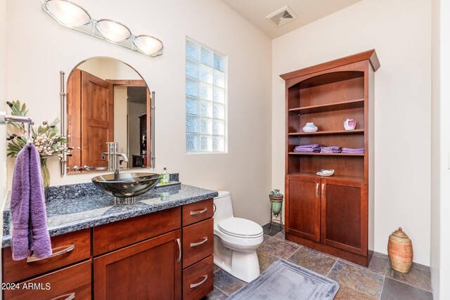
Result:
<instances>
[{"instance_id":1,"label":"purple hand towel hanging over the left end of vanity","mask_svg":"<svg viewBox=\"0 0 450 300\"><path fill-rule=\"evenodd\" d=\"M31 252L38 259L51 255L40 169L39 152L34 145L25 145L15 161L11 192L11 250L15 261L25 259Z\"/></svg>"}]
</instances>

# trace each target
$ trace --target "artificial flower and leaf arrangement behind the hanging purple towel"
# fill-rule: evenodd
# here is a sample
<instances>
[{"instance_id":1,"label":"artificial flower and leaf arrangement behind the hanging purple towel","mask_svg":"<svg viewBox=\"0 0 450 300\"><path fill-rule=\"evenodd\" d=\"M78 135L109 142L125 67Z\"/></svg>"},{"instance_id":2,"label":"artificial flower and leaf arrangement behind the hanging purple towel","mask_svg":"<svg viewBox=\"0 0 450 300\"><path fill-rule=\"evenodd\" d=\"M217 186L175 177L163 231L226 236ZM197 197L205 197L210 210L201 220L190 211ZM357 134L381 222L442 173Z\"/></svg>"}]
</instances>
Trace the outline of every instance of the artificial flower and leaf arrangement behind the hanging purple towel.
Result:
<instances>
[{"instance_id":1,"label":"artificial flower and leaf arrangement behind the hanging purple towel","mask_svg":"<svg viewBox=\"0 0 450 300\"><path fill-rule=\"evenodd\" d=\"M9 107L11 107L11 115L26 117L27 115L27 105L25 103L20 104L20 101L6 102ZM41 173L42 179L44 181L44 186L47 188L50 183L49 169L46 166L46 160L48 157L58 155L59 159L63 157L65 152L68 156L71 156L71 148L67 148L67 139L65 136L58 134L59 119L56 118L53 122L42 122L39 127L34 126L32 122L31 126L31 138L32 143L39 152L41 157ZM20 150L22 150L25 145L27 145L27 126L20 122L8 122L11 124L16 132L18 133L7 133L6 140L8 141L8 146L6 148L7 156L17 157Z\"/></svg>"}]
</instances>

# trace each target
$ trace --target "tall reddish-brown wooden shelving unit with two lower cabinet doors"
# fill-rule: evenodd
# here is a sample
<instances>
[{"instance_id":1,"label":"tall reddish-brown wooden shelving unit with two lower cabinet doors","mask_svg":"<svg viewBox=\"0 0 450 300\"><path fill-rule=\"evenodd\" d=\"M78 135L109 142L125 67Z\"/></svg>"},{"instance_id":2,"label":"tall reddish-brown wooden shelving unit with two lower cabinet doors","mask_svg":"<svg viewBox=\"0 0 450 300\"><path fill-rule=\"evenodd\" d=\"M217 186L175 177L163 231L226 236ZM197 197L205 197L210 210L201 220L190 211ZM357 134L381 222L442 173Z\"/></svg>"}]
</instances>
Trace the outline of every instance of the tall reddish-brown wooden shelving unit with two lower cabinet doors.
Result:
<instances>
[{"instance_id":1,"label":"tall reddish-brown wooden shelving unit with two lower cabinet doors","mask_svg":"<svg viewBox=\"0 0 450 300\"><path fill-rule=\"evenodd\" d=\"M373 240L374 50L281 75L286 95L285 238L368 266ZM356 129L346 131L346 119ZM307 122L319 130L302 131ZM293 152L297 145L364 153ZM316 175L334 169L330 177ZM373 243L371 243L373 244Z\"/></svg>"}]
</instances>

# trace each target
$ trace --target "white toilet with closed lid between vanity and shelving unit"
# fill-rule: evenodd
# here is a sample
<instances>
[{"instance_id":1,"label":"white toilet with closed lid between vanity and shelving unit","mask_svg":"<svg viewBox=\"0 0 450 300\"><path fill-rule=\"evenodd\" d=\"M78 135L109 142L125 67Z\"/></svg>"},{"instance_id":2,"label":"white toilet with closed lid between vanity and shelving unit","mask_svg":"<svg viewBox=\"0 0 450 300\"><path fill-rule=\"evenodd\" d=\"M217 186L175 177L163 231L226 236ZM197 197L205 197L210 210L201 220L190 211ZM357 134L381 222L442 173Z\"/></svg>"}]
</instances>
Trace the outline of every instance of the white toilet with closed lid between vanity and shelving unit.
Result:
<instances>
[{"instance_id":1,"label":"white toilet with closed lid between vanity and shelving unit","mask_svg":"<svg viewBox=\"0 0 450 300\"><path fill-rule=\"evenodd\" d=\"M233 216L230 192L219 191L214 205L214 264L250 282L259 276L256 249L264 240L262 227Z\"/></svg>"}]
</instances>

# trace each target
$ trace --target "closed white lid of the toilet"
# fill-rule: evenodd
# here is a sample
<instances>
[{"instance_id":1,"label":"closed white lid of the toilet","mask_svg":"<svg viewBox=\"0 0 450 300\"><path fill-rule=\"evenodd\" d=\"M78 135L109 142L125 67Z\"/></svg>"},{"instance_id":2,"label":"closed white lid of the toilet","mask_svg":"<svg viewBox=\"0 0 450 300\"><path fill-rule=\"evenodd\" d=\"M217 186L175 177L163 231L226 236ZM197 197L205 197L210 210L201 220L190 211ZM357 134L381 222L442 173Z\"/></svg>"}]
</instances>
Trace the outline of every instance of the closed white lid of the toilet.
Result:
<instances>
[{"instance_id":1,"label":"closed white lid of the toilet","mask_svg":"<svg viewBox=\"0 0 450 300\"><path fill-rule=\"evenodd\" d=\"M227 235L234 237L259 237L262 227L259 224L241 218L229 218L217 223L217 228Z\"/></svg>"}]
</instances>

